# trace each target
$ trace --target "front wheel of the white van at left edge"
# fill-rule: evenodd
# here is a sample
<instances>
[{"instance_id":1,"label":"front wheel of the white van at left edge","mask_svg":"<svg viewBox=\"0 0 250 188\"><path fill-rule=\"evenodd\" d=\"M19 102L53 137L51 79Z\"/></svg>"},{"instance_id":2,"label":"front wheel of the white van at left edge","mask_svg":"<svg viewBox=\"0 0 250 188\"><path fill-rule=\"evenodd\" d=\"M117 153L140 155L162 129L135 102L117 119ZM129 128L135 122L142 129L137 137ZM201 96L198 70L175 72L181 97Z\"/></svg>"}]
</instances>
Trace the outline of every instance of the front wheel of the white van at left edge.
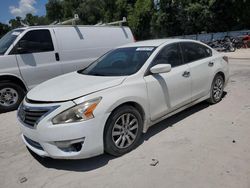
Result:
<instances>
[{"instance_id":1,"label":"front wheel of the white van at left edge","mask_svg":"<svg viewBox=\"0 0 250 188\"><path fill-rule=\"evenodd\" d=\"M14 83L0 83L0 113L16 110L25 96L25 91Z\"/></svg>"}]
</instances>

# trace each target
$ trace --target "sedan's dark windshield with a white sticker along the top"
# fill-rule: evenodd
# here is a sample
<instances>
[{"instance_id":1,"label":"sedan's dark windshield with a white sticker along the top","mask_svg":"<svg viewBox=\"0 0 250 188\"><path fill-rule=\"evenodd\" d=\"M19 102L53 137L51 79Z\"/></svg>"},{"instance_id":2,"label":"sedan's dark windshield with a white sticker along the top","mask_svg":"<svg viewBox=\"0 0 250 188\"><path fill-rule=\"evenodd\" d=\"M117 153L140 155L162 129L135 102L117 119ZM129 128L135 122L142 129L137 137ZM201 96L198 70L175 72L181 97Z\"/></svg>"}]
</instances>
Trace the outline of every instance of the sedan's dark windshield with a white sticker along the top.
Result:
<instances>
[{"instance_id":1,"label":"sedan's dark windshield with a white sticker along the top","mask_svg":"<svg viewBox=\"0 0 250 188\"><path fill-rule=\"evenodd\" d=\"M155 47L118 48L105 54L79 73L95 76L131 75L142 67L154 49Z\"/></svg>"}]
</instances>

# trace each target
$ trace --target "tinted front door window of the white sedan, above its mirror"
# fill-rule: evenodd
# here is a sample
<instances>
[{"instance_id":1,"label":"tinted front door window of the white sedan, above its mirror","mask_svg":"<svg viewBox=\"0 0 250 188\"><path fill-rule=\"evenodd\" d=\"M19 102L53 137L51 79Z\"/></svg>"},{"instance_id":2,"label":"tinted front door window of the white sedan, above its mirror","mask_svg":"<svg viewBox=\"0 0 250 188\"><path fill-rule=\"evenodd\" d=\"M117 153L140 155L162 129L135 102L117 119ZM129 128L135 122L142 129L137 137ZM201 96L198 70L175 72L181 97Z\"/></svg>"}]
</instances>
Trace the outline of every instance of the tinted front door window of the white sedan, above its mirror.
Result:
<instances>
[{"instance_id":1,"label":"tinted front door window of the white sedan, above its mirror","mask_svg":"<svg viewBox=\"0 0 250 188\"><path fill-rule=\"evenodd\" d=\"M180 46L178 43L167 45L154 59L153 65L170 64L172 67L182 65Z\"/></svg>"}]
</instances>

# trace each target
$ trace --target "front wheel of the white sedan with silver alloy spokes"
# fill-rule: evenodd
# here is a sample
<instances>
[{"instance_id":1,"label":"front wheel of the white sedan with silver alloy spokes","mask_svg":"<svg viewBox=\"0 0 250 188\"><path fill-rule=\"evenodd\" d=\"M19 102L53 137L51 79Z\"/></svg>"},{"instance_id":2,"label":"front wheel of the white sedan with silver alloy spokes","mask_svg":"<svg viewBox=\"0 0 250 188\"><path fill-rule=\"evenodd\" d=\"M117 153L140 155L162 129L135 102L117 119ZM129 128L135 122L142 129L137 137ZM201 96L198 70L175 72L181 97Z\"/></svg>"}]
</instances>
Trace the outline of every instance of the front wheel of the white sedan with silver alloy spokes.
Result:
<instances>
[{"instance_id":1,"label":"front wheel of the white sedan with silver alloy spokes","mask_svg":"<svg viewBox=\"0 0 250 188\"><path fill-rule=\"evenodd\" d=\"M130 152L138 146L142 129L143 121L137 109L128 105L119 107L111 113L105 125L105 152L113 156Z\"/></svg>"}]
</instances>

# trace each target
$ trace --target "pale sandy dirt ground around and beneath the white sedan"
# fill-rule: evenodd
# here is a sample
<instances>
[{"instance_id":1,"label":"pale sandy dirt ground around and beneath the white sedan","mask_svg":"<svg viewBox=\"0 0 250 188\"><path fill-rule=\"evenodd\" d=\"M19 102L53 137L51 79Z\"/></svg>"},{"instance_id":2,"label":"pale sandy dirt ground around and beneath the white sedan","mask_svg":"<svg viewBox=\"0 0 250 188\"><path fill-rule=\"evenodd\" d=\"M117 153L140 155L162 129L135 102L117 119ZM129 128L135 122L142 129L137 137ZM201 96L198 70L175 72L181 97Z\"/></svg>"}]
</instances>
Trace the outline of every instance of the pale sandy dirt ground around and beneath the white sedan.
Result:
<instances>
[{"instance_id":1,"label":"pale sandy dirt ground around and beneath the white sedan","mask_svg":"<svg viewBox=\"0 0 250 188\"><path fill-rule=\"evenodd\" d=\"M136 150L119 158L32 156L16 112L1 114L0 187L249 188L250 59L231 59L230 68L219 104L201 103L155 125ZM159 163L151 166L152 159Z\"/></svg>"}]
</instances>

